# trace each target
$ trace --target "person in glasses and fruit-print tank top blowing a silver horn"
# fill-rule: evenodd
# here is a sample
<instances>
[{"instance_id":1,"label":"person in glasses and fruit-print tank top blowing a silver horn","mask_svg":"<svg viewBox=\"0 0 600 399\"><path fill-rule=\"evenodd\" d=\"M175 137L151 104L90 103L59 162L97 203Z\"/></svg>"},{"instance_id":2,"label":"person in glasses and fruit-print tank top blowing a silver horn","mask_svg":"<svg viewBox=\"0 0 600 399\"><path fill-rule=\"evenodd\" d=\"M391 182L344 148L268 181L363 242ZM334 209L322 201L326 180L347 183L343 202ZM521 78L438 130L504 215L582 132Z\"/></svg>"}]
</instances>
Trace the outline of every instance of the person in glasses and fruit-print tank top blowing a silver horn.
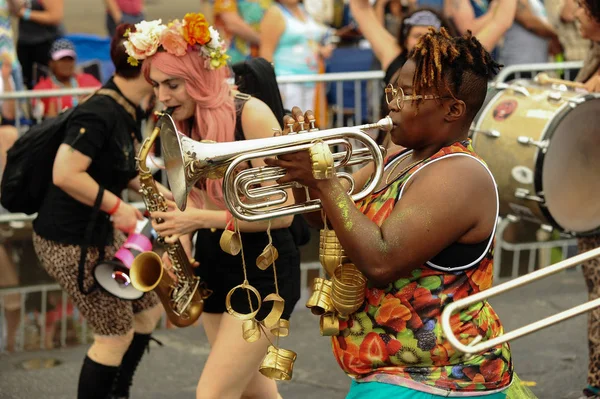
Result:
<instances>
[{"instance_id":1,"label":"person in glasses and fruit-print tank top blowing a silver horn","mask_svg":"<svg viewBox=\"0 0 600 399\"><path fill-rule=\"evenodd\" d=\"M287 170L280 183L298 182L321 200L366 277L362 305L339 319L332 338L339 365L354 377L347 398L530 397L514 392L521 387L507 344L467 361L440 325L447 304L492 285L498 194L468 131L498 67L470 34L422 36L386 89L392 141L408 150L388 159L383 181L359 203L337 177L316 180L306 151L266 160ZM358 189L371 170L355 174ZM303 193L295 192L298 201ZM455 315L453 325L467 342L502 333L487 302Z\"/></svg>"}]
</instances>

